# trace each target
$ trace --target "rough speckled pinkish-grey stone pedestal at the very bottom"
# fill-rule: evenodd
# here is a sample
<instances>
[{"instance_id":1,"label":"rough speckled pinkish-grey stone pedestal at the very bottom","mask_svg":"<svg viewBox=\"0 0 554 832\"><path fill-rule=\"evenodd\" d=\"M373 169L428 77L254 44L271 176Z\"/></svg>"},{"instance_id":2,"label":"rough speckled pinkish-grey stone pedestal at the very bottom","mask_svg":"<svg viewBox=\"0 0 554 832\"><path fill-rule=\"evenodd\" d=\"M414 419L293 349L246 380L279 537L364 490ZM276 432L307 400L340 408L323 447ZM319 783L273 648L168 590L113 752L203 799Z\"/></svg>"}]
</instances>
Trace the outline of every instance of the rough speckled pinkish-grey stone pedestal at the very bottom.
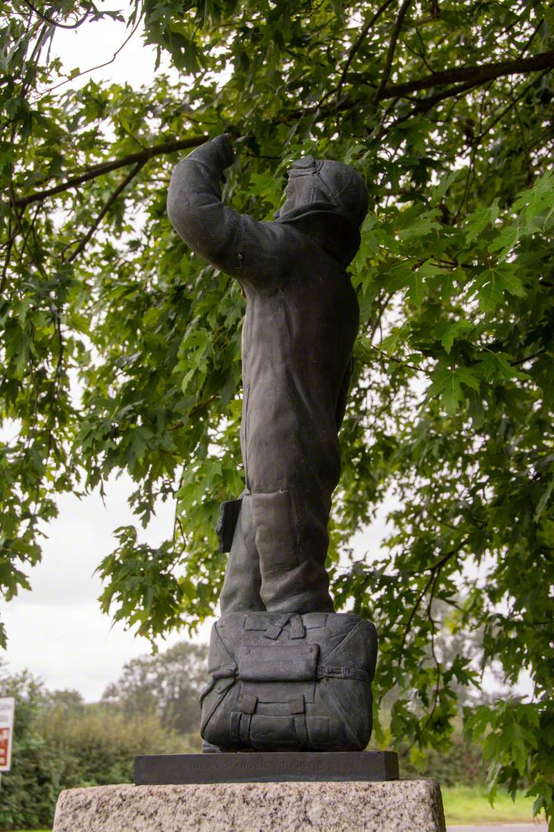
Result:
<instances>
[{"instance_id":1,"label":"rough speckled pinkish-grey stone pedestal at the very bottom","mask_svg":"<svg viewBox=\"0 0 554 832\"><path fill-rule=\"evenodd\" d=\"M62 791L54 832L444 832L435 780Z\"/></svg>"}]
</instances>

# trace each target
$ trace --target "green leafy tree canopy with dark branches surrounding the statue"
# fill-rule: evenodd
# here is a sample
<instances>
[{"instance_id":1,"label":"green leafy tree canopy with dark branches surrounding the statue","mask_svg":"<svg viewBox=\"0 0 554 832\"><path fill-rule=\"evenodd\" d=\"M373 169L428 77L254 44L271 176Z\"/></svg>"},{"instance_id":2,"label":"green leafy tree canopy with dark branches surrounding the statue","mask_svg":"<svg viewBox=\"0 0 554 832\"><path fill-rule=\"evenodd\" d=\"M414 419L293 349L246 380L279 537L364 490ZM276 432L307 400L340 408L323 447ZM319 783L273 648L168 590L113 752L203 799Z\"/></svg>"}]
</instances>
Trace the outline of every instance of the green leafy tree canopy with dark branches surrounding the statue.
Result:
<instances>
[{"instance_id":1,"label":"green leafy tree canopy with dark branches surrounding the statue","mask_svg":"<svg viewBox=\"0 0 554 832\"><path fill-rule=\"evenodd\" d=\"M244 302L171 230L169 172L228 128L224 198L267 218L287 161L347 161L375 206L351 267L336 601L381 633L376 689L399 694L398 743L445 750L475 679L436 645L437 601L453 631L483 632L484 667L509 684L530 674L531 701L483 706L471 725L492 737L493 789L525 768L552 820L552 10L149 0L129 25L188 74L71 92L53 88L71 74L47 48L56 25L93 32L108 12L37 9L8 3L0 32L2 592L27 586L56 494L125 470L137 526L159 499L177 512L160 547L120 529L105 610L150 637L213 612L218 502L242 487ZM390 494L389 539L353 560L352 535Z\"/></svg>"}]
</instances>

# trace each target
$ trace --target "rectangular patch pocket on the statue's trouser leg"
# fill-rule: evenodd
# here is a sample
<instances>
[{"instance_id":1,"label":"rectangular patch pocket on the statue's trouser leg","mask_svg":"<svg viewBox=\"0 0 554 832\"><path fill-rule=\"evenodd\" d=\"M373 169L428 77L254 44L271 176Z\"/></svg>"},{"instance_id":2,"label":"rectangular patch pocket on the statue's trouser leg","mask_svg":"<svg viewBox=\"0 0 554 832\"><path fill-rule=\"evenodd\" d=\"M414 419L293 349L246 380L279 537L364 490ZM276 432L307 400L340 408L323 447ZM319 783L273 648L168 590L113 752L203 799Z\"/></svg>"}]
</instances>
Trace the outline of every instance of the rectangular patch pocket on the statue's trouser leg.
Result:
<instances>
[{"instance_id":1,"label":"rectangular patch pocket on the statue's trouser leg","mask_svg":"<svg viewBox=\"0 0 554 832\"><path fill-rule=\"evenodd\" d=\"M290 490L252 494L251 499L262 575L297 567L297 519Z\"/></svg>"}]
</instances>

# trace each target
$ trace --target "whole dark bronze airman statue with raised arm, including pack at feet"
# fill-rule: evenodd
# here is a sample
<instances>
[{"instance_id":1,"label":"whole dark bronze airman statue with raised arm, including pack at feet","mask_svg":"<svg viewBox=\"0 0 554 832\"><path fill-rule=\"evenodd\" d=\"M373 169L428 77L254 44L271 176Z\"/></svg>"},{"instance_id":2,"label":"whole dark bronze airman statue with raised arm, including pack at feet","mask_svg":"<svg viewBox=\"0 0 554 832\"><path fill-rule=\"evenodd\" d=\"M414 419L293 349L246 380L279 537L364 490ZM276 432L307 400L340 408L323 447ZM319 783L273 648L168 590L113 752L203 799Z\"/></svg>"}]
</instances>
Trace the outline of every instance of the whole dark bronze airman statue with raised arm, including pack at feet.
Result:
<instances>
[{"instance_id":1,"label":"whole dark bronze airman statue with raised arm, including pack at feet","mask_svg":"<svg viewBox=\"0 0 554 832\"><path fill-rule=\"evenodd\" d=\"M334 612L325 560L359 319L346 267L368 193L350 166L306 156L288 171L275 220L261 222L221 202L232 162L230 136L217 136L179 163L168 194L175 230L247 300L246 488L219 523L230 554L202 733L231 749L365 747L375 628Z\"/></svg>"}]
</instances>

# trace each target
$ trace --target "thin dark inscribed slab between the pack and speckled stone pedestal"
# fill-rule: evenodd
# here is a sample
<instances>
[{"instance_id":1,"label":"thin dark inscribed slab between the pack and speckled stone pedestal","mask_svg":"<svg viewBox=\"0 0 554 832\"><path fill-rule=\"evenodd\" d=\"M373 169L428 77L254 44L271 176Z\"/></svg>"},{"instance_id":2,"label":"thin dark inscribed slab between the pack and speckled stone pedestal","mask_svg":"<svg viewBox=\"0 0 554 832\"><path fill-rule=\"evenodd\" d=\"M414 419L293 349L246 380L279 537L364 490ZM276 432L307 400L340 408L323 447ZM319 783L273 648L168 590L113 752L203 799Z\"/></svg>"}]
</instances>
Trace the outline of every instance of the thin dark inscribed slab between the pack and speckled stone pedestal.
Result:
<instances>
[{"instance_id":1,"label":"thin dark inscribed slab between the pack and speckled stone pedestal","mask_svg":"<svg viewBox=\"0 0 554 832\"><path fill-rule=\"evenodd\" d=\"M257 751L135 757L136 785L398 780L395 751Z\"/></svg>"}]
</instances>

